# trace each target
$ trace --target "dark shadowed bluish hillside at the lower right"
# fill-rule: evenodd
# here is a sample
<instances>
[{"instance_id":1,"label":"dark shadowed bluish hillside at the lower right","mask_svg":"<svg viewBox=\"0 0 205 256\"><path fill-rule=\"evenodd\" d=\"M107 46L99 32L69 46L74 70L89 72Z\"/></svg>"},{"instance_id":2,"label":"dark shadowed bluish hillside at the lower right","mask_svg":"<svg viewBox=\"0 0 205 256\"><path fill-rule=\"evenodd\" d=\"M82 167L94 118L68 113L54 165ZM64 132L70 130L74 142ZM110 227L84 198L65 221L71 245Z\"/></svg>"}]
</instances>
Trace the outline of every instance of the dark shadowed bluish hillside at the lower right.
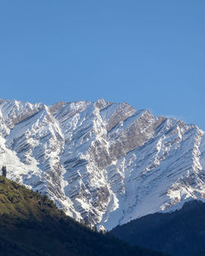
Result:
<instances>
[{"instance_id":1,"label":"dark shadowed bluish hillside at the lower right","mask_svg":"<svg viewBox=\"0 0 205 256\"><path fill-rule=\"evenodd\" d=\"M132 245L173 256L194 256L205 251L205 203L186 202L179 211L144 216L111 233Z\"/></svg>"}]
</instances>

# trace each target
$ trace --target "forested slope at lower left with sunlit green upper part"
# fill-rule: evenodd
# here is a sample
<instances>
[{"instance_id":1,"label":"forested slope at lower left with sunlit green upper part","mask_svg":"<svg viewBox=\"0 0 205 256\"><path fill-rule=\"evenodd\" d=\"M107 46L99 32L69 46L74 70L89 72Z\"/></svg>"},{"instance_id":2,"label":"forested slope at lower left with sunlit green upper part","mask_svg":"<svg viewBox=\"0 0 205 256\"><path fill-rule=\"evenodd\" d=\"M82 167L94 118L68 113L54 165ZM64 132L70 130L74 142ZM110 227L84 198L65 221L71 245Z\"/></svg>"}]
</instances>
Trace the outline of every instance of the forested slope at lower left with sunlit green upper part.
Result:
<instances>
[{"instance_id":1,"label":"forested slope at lower left with sunlit green upper part","mask_svg":"<svg viewBox=\"0 0 205 256\"><path fill-rule=\"evenodd\" d=\"M0 177L1 256L162 256L74 221L39 193Z\"/></svg>"}]
</instances>

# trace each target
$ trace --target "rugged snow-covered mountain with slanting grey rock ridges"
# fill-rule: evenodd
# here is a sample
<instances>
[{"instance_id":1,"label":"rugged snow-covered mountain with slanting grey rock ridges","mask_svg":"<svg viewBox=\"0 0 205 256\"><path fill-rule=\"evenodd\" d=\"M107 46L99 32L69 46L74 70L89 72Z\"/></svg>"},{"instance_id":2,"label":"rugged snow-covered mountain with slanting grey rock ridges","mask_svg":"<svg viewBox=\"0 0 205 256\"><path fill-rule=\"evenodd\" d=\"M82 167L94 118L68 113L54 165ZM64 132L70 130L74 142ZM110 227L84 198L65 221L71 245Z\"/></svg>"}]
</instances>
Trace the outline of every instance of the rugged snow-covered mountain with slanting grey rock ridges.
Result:
<instances>
[{"instance_id":1,"label":"rugged snow-covered mountain with slanting grey rock ridges","mask_svg":"<svg viewBox=\"0 0 205 256\"><path fill-rule=\"evenodd\" d=\"M0 165L106 230L205 198L205 135L126 103L0 100Z\"/></svg>"}]
</instances>

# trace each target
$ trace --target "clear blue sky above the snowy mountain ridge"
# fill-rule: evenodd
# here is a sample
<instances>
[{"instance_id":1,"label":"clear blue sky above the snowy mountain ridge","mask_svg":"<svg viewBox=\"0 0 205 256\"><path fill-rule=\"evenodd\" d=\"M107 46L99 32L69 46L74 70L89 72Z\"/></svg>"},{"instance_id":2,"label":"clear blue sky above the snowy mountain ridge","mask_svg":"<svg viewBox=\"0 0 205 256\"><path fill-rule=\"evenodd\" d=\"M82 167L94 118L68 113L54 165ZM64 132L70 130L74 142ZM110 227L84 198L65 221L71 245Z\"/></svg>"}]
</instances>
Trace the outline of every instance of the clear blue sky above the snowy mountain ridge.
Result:
<instances>
[{"instance_id":1,"label":"clear blue sky above the snowy mountain ridge","mask_svg":"<svg viewBox=\"0 0 205 256\"><path fill-rule=\"evenodd\" d=\"M1 0L0 98L126 101L205 130L205 1Z\"/></svg>"}]
</instances>

